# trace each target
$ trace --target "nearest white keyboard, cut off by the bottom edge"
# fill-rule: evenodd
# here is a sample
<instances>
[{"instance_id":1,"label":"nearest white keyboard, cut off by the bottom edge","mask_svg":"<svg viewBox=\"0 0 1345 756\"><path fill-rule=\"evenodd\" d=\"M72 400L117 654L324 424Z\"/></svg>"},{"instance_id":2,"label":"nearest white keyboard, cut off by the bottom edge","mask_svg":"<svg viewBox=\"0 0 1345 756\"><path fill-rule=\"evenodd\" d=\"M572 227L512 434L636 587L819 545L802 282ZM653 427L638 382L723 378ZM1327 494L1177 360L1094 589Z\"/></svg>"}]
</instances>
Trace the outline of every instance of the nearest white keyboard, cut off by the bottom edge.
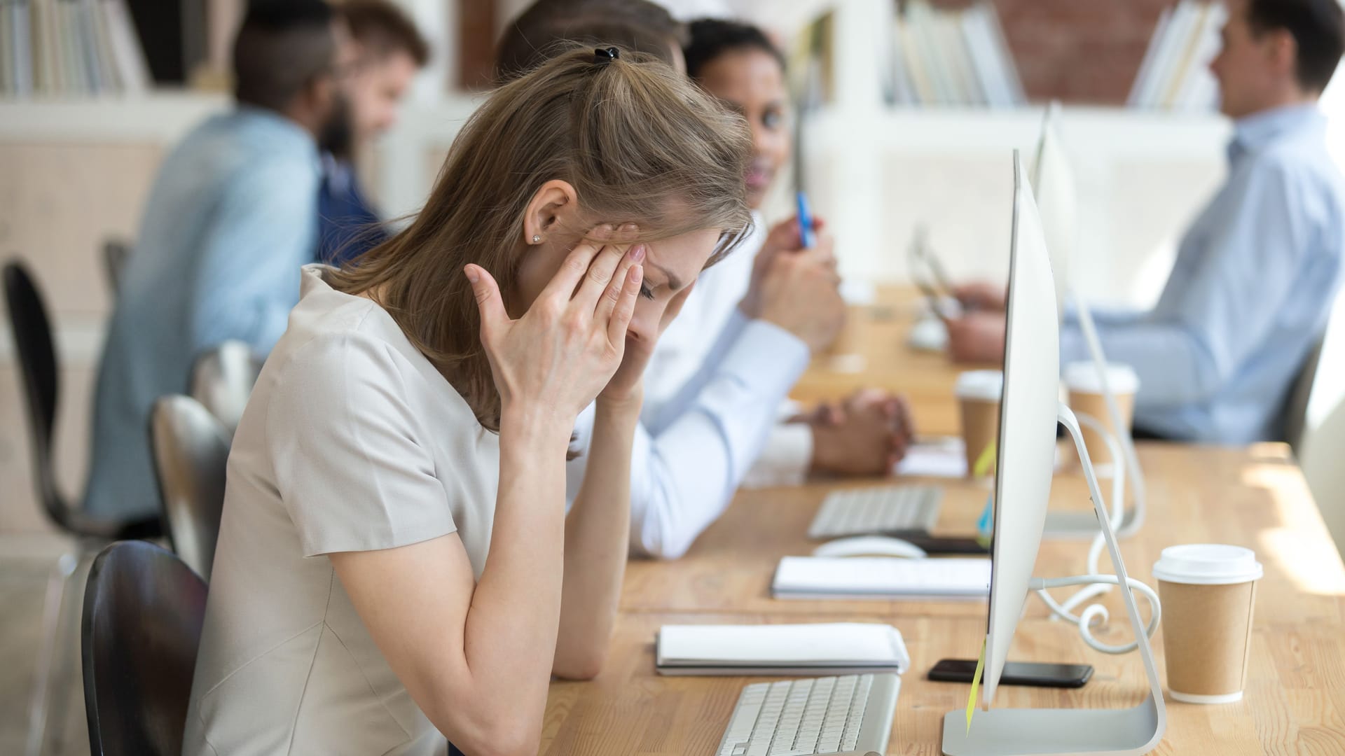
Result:
<instances>
[{"instance_id":1,"label":"nearest white keyboard, cut off by the bottom edge","mask_svg":"<svg viewBox=\"0 0 1345 756\"><path fill-rule=\"evenodd\" d=\"M900 687L901 678L892 673L749 685L716 753L886 753Z\"/></svg>"}]
</instances>

